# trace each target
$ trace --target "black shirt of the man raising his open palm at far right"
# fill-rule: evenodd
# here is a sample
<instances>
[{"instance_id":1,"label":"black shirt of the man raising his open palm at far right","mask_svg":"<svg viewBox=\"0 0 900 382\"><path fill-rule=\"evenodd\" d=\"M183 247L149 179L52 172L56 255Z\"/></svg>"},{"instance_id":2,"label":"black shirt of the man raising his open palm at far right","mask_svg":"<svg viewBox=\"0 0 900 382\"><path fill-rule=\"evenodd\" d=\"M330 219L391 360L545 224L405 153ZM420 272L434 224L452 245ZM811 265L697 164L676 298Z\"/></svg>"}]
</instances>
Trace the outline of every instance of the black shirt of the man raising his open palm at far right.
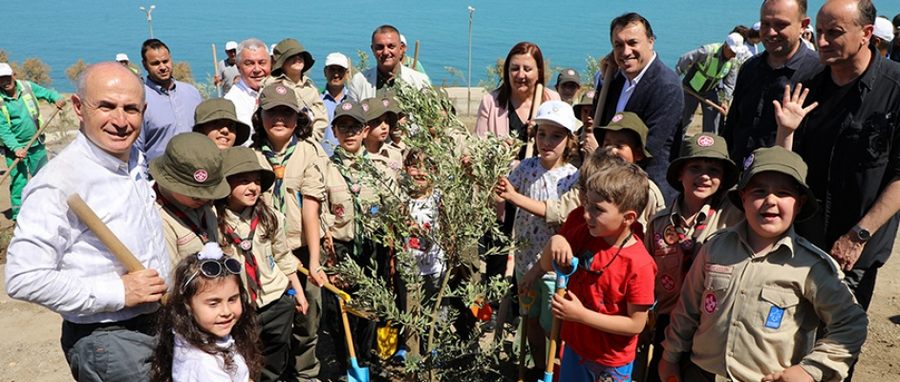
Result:
<instances>
[{"instance_id":1,"label":"black shirt of the man raising his open palm at far right","mask_svg":"<svg viewBox=\"0 0 900 382\"><path fill-rule=\"evenodd\" d=\"M807 103L819 106L794 137L794 151L809 165L807 183L819 211L798 231L828 251L859 222L888 184L900 178L900 63L873 50L865 72L838 88L825 67L809 81ZM884 264L900 215L866 244L856 268Z\"/></svg>"}]
</instances>

